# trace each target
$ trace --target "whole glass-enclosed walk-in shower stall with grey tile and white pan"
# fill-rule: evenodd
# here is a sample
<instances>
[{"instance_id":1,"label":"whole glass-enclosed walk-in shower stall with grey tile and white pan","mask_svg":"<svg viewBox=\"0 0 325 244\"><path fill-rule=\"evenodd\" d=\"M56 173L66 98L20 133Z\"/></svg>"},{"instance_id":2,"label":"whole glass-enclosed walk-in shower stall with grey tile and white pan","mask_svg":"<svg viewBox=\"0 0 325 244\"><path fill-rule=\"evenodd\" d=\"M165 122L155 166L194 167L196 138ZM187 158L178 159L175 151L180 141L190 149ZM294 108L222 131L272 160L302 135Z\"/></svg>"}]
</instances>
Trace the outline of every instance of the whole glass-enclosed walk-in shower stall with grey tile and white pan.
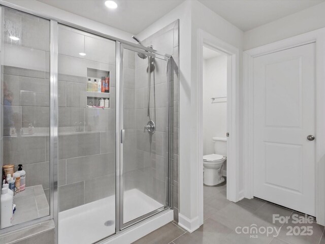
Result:
<instances>
[{"instance_id":1,"label":"whole glass-enclosed walk-in shower stall with grey tile and white pan","mask_svg":"<svg viewBox=\"0 0 325 244\"><path fill-rule=\"evenodd\" d=\"M169 209L171 56L4 6L1 26L0 165L26 188L0 234L54 219L88 244Z\"/></svg>"}]
</instances>

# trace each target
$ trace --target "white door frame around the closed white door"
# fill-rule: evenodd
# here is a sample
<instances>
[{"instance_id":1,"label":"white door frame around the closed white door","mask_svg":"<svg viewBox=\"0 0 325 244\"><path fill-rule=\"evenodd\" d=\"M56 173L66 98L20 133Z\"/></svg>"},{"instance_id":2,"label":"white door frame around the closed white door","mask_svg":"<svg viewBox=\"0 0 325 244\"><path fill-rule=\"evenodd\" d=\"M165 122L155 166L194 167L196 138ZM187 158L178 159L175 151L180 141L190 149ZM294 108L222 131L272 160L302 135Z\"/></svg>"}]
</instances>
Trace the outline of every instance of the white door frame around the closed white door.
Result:
<instances>
[{"instance_id":1,"label":"white door frame around the closed white door","mask_svg":"<svg viewBox=\"0 0 325 244\"><path fill-rule=\"evenodd\" d=\"M265 54L316 43L316 220L320 225L325 225L325 28L287 38L261 47L256 47L243 52L244 79L243 79L243 161L244 161L244 195L253 198L253 58Z\"/></svg>"}]
</instances>

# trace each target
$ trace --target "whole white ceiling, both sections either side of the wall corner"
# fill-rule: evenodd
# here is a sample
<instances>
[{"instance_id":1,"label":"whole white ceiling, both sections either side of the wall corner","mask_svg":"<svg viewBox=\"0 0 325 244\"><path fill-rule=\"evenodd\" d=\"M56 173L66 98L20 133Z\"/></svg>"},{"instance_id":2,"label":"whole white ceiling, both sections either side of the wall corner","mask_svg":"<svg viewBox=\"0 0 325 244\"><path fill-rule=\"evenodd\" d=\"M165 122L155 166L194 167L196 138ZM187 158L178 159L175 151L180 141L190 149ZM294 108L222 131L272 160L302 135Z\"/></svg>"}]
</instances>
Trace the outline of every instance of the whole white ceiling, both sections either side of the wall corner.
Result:
<instances>
[{"instance_id":1,"label":"whole white ceiling, both sections either side of the wall corner","mask_svg":"<svg viewBox=\"0 0 325 244\"><path fill-rule=\"evenodd\" d=\"M138 34L184 0L115 0L118 8L107 9L105 0L38 0L56 8ZM248 31L325 0L199 0L209 9Z\"/></svg>"}]
</instances>

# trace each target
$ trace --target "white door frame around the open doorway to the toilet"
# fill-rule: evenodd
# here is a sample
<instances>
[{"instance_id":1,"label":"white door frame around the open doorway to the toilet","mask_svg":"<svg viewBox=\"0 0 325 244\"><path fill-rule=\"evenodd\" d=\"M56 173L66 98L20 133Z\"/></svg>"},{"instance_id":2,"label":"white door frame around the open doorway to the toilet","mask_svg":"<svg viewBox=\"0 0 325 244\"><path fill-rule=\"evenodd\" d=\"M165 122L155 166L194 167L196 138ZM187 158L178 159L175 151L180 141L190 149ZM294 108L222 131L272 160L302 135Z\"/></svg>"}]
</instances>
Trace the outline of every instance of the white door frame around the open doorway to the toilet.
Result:
<instances>
[{"instance_id":1,"label":"white door frame around the open doorway to the toilet","mask_svg":"<svg viewBox=\"0 0 325 244\"><path fill-rule=\"evenodd\" d=\"M199 182L199 222L203 217L203 47L222 52L227 58L227 199L233 202L241 200L244 195L239 186L239 49L215 36L198 30L198 182Z\"/></svg>"}]
</instances>

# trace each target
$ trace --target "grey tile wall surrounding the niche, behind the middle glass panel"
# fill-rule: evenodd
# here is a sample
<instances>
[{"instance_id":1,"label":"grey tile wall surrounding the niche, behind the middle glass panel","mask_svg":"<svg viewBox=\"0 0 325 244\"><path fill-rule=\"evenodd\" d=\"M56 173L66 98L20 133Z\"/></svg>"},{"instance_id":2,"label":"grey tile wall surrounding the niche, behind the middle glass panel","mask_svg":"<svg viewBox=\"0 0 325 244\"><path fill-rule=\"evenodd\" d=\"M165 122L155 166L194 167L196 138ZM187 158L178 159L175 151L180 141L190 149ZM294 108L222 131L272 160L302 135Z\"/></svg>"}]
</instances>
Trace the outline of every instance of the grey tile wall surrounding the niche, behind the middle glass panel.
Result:
<instances>
[{"instance_id":1,"label":"grey tile wall surrounding the niche, behind the middle glass panel","mask_svg":"<svg viewBox=\"0 0 325 244\"><path fill-rule=\"evenodd\" d=\"M58 34L58 193L63 211L115 194L115 42L62 25ZM86 107L87 68L110 72L110 108Z\"/></svg>"}]
</instances>

